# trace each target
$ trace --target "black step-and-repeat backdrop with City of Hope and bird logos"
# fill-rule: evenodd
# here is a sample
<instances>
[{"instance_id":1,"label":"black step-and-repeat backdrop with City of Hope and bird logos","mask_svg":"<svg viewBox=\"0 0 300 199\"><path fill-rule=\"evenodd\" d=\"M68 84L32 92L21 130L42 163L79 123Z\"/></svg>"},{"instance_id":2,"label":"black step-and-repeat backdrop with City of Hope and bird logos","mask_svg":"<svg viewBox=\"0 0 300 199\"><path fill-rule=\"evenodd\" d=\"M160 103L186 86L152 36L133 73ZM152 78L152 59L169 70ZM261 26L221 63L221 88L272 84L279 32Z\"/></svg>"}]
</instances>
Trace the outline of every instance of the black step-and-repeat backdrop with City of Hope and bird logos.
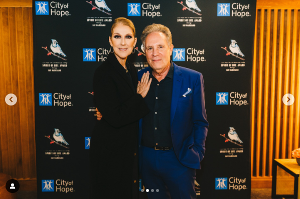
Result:
<instances>
[{"instance_id":1,"label":"black step-and-repeat backdrop with City of Hope and bird logos","mask_svg":"<svg viewBox=\"0 0 300 199\"><path fill-rule=\"evenodd\" d=\"M92 78L120 16L136 28L128 59L137 70L148 66L143 28L162 23L173 35L171 60L204 76L209 130L198 198L250 198L255 6L255 0L33 1L38 198L89 196ZM111 186L122 184L115 179Z\"/></svg>"}]
</instances>

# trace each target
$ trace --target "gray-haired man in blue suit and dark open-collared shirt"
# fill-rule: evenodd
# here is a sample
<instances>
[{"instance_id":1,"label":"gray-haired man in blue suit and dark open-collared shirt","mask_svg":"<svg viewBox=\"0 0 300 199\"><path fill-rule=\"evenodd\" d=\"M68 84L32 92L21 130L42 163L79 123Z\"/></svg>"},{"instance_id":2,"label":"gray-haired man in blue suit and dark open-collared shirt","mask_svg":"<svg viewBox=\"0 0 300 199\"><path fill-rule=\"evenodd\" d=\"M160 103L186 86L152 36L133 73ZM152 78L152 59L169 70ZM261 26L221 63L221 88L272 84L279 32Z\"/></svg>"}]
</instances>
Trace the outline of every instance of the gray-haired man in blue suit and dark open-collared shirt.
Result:
<instances>
[{"instance_id":1,"label":"gray-haired man in blue suit and dark open-collared shirt","mask_svg":"<svg viewBox=\"0 0 300 199\"><path fill-rule=\"evenodd\" d=\"M196 169L208 130L201 73L176 65L168 27L144 28L141 41L153 78L144 98L150 112L139 121L139 168L149 199L196 198ZM99 113L97 113L99 114ZM98 116L100 117L100 116Z\"/></svg>"}]
</instances>

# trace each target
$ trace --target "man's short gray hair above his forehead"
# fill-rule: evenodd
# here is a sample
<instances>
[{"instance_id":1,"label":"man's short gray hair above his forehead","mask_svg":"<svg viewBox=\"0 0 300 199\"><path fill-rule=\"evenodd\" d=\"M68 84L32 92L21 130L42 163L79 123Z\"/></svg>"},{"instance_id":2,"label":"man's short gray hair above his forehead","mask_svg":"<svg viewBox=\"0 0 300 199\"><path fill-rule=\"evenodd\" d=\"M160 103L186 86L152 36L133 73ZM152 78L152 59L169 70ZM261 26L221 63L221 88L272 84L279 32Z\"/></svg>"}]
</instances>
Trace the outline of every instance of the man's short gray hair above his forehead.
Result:
<instances>
[{"instance_id":1,"label":"man's short gray hair above his forehead","mask_svg":"<svg viewBox=\"0 0 300 199\"><path fill-rule=\"evenodd\" d=\"M168 45L169 46L172 45L172 34L169 27L162 24L153 23L152 25L147 25L141 33L140 39L141 39L141 43L144 46L144 49L146 49L145 46L146 37L148 34L152 32L163 32L167 37Z\"/></svg>"}]
</instances>

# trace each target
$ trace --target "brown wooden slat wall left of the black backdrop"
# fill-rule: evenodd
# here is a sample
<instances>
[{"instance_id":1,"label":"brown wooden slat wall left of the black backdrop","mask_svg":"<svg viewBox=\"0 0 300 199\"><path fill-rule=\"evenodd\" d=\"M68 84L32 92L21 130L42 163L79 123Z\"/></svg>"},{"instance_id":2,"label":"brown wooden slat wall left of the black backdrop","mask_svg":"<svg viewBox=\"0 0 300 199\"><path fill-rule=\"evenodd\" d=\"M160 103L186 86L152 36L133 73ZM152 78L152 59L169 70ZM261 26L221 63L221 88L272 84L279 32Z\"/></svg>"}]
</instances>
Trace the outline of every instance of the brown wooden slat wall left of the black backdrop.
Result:
<instances>
[{"instance_id":1,"label":"brown wooden slat wall left of the black backdrop","mask_svg":"<svg viewBox=\"0 0 300 199\"><path fill-rule=\"evenodd\" d=\"M32 8L0 7L0 172L17 179L36 178L33 77Z\"/></svg>"}]
</instances>

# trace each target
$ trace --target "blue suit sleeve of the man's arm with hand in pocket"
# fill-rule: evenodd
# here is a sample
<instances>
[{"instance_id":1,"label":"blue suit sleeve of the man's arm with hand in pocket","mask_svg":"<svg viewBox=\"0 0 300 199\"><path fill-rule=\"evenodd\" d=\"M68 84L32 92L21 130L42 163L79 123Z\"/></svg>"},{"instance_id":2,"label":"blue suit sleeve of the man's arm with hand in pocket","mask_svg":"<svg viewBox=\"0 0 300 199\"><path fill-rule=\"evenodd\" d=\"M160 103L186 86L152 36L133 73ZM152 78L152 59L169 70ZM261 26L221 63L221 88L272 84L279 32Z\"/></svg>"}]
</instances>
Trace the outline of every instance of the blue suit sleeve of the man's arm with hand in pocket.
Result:
<instances>
[{"instance_id":1,"label":"blue suit sleeve of the man's arm with hand in pocket","mask_svg":"<svg viewBox=\"0 0 300 199\"><path fill-rule=\"evenodd\" d=\"M194 146L199 152L200 161L205 153L205 139L208 130L208 121L205 110L204 101L204 80L200 73L193 93L193 131L194 131Z\"/></svg>"}]
</instances>

